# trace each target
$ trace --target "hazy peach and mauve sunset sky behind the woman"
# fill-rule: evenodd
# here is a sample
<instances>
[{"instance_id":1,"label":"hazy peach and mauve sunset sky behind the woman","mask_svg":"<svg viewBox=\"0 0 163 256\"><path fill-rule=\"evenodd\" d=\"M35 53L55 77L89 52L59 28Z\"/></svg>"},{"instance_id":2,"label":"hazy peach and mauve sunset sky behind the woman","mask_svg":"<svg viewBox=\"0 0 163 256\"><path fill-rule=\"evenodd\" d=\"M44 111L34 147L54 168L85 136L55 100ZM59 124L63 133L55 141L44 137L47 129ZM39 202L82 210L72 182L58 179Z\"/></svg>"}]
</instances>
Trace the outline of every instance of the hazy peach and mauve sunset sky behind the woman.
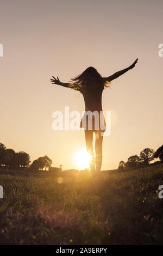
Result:
<instances>
[{"instance_id":1,"label":"hazy peach and mauve sunset sky behind the woman","mask_svg":"<svg viewBox=\"0 0 163 256\"><path fill-rule=\"evenodd\" d=\"M103 92L111 134L104 137L102 170L162 145L162 0L0 3L0 142L31 161L48 155L55 167L78 168L74 155L85 148L84 131L54 131L52 113L69 106L82 114L83 96L50 79L68 82L89 66L106 77L139 58Z\"/></svg>"}]
</instances>

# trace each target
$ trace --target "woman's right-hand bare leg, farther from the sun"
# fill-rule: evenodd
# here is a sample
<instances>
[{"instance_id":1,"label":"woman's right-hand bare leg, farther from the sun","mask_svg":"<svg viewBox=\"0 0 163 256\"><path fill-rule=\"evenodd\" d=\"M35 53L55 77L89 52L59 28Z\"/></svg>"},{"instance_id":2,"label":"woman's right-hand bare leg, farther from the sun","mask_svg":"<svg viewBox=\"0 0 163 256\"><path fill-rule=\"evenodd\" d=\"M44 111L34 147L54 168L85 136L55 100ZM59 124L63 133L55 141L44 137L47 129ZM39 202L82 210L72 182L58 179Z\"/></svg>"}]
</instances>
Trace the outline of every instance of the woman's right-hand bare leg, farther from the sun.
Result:
<instances>
[{"instance_id":1,"label":"woman's right-hand bare leg, farther from the sun","mask_svg":"<svg viewBox=\"0 0 163 256\"><path fill-rule=\"evenodd\" d=\"M96 170L100 171L102 166L102 144L103 136L101 136L101 131L96 131L96 142L95 142L95 153L96 153Z\"/></svg>"}]
</instances>

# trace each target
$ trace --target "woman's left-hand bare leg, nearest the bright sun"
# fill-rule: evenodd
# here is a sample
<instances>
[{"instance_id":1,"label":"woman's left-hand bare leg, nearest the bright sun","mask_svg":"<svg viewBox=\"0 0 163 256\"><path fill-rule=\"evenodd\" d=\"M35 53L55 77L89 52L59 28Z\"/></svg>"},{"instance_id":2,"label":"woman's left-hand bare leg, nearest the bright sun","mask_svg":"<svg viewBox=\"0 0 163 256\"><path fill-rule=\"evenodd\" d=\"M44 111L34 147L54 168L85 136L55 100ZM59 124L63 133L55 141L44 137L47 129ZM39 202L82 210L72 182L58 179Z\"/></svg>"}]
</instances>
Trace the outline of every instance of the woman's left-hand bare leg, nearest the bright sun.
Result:
<instances>
[{"instance_id":1,"label":"woman's left-hand bare leg, nearest the bright sun","mask_svg":"<svg viewBox=\"0 0 163 256\"><path fill-rule=\"evenodd\" d=\"M93 153L93 131L85 130L86 151L91 156L90 169L95 170L95 156Z\"/></svg>"}]
</instances>

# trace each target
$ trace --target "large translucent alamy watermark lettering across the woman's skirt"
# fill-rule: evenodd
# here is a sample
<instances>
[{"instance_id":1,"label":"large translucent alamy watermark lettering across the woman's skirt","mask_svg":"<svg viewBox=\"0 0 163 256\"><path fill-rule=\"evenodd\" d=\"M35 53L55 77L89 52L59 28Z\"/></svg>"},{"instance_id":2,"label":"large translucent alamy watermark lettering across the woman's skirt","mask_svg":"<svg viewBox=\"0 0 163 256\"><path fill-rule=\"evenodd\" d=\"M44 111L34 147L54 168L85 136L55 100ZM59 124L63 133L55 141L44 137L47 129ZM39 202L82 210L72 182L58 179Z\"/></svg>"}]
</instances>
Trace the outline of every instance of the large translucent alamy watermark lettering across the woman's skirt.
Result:
<instances>
[{"instance_id":1,"label":"large translucent alamy watermark lettering across the woman's skirt","mask_svg":"<svg viewBox=\"0 0 163 256\"><path fill-rule=\"evenodd\" d=\"M105 123L105 117L106 123ZM80 127L81 115L78 111L71 111L65 107L64 113L54 111L52 117L55 118L52 127L54 131L75 131L80 130L99 130L101 136L109 136L111 132L111 111L82 111L82 127ZM72 118L70 120L70 118Z\"/></svg>"}]
</instances>

